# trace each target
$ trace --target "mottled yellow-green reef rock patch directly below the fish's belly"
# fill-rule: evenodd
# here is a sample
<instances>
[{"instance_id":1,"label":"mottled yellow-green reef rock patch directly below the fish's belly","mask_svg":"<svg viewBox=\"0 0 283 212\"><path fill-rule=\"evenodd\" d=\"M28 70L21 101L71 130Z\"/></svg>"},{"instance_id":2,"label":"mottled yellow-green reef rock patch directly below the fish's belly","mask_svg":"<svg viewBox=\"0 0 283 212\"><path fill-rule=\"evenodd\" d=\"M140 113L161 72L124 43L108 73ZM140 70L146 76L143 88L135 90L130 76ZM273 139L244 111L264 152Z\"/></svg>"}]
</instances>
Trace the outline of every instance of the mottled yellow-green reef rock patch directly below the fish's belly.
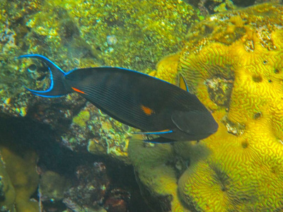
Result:
<instances>
[{"instance_id":1,"label":"mottled yellow-green reef rock patch directly below the fish's belly","mask_svg":"<svg viewBox=\"0 0 283 212\"><path fill-rule=\"evenodd\" d=\"M72 151L108 155L129 164L127 147L132 128L103 114L91 103L87 103L77 114L69 131L62 134L64 146Z\"/></svg>"}]
</instances>

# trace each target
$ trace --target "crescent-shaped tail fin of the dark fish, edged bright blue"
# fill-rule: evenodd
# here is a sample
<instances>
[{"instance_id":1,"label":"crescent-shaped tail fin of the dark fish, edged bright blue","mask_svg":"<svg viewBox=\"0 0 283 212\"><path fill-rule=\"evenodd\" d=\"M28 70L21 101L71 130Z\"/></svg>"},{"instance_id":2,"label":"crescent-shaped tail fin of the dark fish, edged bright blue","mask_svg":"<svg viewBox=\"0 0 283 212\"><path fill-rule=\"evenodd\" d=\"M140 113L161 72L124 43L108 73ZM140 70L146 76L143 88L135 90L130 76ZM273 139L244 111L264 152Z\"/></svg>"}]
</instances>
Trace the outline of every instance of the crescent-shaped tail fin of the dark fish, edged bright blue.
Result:
<instances>
[{"instance_id":1,"label":"crescent-shaped tail fin of the dark fish, edged bright blue","mask_svg":"<svg viewBox=\"0 0 283 212\"><path fill-rule=\"evenodd\" d=\"M40 59L41 61L45 62L47 64L48 69L50 70L50 88L47 90L31 90L30 88L26 88L34 95L39 95L41 97L45 98L57 98L62 95L67 95L68 93L71 93L71 90L65 88L64 85L64 76L66 73L59 68L56 64L54 64L50 59L47 59L47 57L44 57L40 54L25 54L18 57L18 59L22 58L35 58Z\"/></svg>"}]
</instances>

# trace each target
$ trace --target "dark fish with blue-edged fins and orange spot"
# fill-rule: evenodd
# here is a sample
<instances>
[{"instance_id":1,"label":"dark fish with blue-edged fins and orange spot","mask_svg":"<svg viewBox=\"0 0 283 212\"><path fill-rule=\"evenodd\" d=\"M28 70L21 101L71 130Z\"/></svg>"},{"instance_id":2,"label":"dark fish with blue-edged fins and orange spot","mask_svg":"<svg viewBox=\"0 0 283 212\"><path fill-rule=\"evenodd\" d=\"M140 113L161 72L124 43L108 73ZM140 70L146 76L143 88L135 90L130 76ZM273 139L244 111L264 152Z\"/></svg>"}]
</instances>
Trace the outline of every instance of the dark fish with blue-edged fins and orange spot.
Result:
<instances>
[{"instance_id":1,"label":"dark fish with blue-edged fins and orange spot","mask_svg":"<svg viewBox=\"0 0 283 212\"><path fill-rule=\"evenodd\" d=\"M157 135L154 141L198 141L218 129L212 114L196 95L187 90L184 78L180 88L158 78L115 67L94 67L64 72L39 54L23 57L40 59L50 69L50 88L30 90L45 98L79 93L119 122L141 129L139 134Z\"/></svg>"}]
</instances>

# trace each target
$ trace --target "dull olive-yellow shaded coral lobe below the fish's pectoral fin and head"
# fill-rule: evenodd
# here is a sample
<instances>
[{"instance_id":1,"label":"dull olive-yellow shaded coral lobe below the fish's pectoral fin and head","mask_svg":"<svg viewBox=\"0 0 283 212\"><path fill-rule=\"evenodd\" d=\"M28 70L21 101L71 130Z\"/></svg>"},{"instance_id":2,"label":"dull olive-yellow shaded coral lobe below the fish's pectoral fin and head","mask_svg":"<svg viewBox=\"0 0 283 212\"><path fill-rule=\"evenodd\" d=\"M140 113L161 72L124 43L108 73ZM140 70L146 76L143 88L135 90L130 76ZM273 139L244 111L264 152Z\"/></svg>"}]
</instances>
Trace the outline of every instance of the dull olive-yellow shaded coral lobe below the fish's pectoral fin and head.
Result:
<instances>
[{"instance_id":1,"label":"dull olive-yellow shaded coral lobe below the fish's pectoral fin and head","mask_svg":"<svg viewBox=\"0 0 283 212\"><path fill-rule=\"evenodd\" d=\"M129 157L139 173L139 179L150 188L153 196L165 196L168 200L161 201L162 211L187 211L178 201L178 184L175 179L175 170L166 165L173 160L173 151L170 144L144 143L141 137L134 137L129 143ZM158 180L156 180L158 179ZM172 196L172 199L171 197ZM169 201L169 202L170 202ZM156 208L158 210L160 208Z\"/></svg>"}]
</instances>

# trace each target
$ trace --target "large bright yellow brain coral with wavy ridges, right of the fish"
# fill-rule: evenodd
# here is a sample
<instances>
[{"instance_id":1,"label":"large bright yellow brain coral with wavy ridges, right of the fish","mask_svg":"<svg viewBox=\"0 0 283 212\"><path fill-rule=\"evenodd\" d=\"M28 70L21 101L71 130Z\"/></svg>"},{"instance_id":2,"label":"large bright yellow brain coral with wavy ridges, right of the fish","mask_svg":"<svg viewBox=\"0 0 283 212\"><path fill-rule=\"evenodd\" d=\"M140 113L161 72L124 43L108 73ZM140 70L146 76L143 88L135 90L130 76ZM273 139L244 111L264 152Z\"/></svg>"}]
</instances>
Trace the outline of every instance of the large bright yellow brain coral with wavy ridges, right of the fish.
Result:
<instances>
[{"instance_id":1,"label":"large bright yellow brain coral with wavy ridges, right of the fish","mask_svg":"<svg viewBox=\"0 0 283 212\"><path fill-rule=\"evenodd\" d=\"M219 123L219 131L200 143L174 143L178 160L164 165L175 167L174 198L189 210L283 209L282 11L261 4L211 16L190 29L178 54L175 73L183 73ZM156 76L167 76L166 68ZM148 183L149 174L142 175Z\"/></svg>"}]
</instances>

